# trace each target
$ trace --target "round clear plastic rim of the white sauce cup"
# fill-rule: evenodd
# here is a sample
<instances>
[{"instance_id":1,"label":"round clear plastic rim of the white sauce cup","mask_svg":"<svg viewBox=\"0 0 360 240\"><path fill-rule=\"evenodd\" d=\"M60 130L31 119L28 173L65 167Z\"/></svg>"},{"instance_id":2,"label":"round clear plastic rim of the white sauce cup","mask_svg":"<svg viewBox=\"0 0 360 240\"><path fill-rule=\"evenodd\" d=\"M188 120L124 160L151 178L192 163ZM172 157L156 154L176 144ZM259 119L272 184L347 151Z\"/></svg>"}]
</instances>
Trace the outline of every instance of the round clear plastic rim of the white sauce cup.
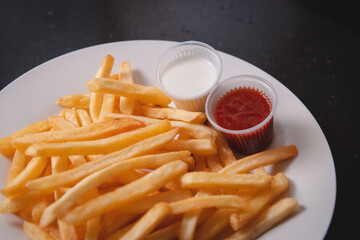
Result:
<instances>
[{"instance_id":1,"label":"round clear plastic rim of the white sauce cup","mask_svg":"<svg viewBox=\"0 0 360 240\"><path fill-rule=\"evenodd\" d=\"M219 66L219 71L217 71L217 74L216 74L216 79L215 79L215 82L209 87L209 89L205 92L202 92L196 96L193 96L193 97L188 97L188 98L178 98L178 97L175 97L173 94L171 94L169 91L167 91L164 87L163 87L163 84L160 80L160 74L159 74L159 66L160 66L160 63L161 63L161 60L164 58L164 56L170 52L171 50L175 49L175 48L178 48L178 47L181 47L181 46L186 46L186 45L195 45L195 46L200 46L200 47L203 47L203 48L206 48L208 50L210 50L215 56L216 58L219 60L219 63L220 63L220 66ZM173 100L177 100L177 101L192 101L192 100L197 100L199 98L202 98L204 96L206 96L207 94L209 94L209 92L214 88L214 86L217 86L217 84L219 83L220 81L220 78L221 78L221 74L222 74L222 68L223 68L223 64L222 64L222 60L221 60L221 57L220 57L220 54L210 45L206 44L206 43L203 43L203 42L200 42L200 41L194 41L194 40L190 40L190 41L185 41L185 42L180 42L180 43L177 43L176 45L168 48L165 52L163 52L159 59L158 59L158 62L156 64L156 68L155 68L155 81L158 85L158 87L167 95L169 96L171 99Z\"/></svg>"}]
</instances>

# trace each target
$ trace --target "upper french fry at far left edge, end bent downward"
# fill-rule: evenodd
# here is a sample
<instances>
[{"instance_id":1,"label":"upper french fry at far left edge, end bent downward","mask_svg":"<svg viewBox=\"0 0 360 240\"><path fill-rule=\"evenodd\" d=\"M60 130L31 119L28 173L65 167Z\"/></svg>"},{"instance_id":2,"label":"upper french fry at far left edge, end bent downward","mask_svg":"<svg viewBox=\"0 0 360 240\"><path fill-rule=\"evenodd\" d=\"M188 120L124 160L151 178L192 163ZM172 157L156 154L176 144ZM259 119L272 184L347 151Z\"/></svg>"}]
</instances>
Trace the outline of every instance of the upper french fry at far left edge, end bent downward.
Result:
<instances>
[{"instance_id":1,"label":"upper french fry at far left edge, end bent downward","mask_svg":"<svg viewBox=\"0 0 360 240\"><path fill-rule=\"evenodd\" d=\"M33 123L18 132L1 138L0 139L0 153L4 155L5 157L11 157L15 153L15 148L13 148L11 142L13 139L25 136L26 134L30 133L38 133L38 132L44 132L50 129L49 122L47 120L42 120L36 123Z\"/></svg>"}]
</instances>

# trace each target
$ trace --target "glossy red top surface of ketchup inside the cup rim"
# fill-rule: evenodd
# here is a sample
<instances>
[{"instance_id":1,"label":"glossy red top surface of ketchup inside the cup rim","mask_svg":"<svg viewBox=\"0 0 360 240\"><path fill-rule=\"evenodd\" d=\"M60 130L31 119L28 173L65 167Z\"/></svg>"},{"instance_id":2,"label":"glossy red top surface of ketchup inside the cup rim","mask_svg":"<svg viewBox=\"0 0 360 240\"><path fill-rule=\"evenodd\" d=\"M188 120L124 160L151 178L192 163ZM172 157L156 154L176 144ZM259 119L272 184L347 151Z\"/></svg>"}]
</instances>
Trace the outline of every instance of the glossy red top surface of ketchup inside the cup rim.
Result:
<instances>
[{"instance_id":1,"label":"glossy red top surface of ketchup inside the cup rim","mask_svg":"<svg viewBox=\"0 0 360 240\"><path fill-rule=\"evenodd\" d=\"M270 100L258 90L235 88L218 101L214 117L223 128L243 130L261 123L270 112Z\"/></svg>"}]
</instances>

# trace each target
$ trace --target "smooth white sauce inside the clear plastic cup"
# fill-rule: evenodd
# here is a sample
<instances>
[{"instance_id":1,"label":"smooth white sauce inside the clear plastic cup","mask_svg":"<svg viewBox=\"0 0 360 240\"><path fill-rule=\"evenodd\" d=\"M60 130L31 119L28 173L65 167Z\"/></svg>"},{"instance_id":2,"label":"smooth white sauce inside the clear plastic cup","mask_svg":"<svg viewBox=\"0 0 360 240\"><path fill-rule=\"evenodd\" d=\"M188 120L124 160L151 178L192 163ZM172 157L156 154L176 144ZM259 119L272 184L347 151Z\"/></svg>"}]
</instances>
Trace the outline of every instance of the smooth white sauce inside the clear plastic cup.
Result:
<instances>
[{"instance_id":1,"label":"smooth white sauce inside the clear plastic cup","mask_svg":"<svg viewBox=\"0 0 360 240\"><path fill-rule=\"evenodd\" d=\"M167 66L160 79L172 97L189 99L202 95L214 85L216 70L204 58L183 58Z\"/></svg>"}]
</instances>

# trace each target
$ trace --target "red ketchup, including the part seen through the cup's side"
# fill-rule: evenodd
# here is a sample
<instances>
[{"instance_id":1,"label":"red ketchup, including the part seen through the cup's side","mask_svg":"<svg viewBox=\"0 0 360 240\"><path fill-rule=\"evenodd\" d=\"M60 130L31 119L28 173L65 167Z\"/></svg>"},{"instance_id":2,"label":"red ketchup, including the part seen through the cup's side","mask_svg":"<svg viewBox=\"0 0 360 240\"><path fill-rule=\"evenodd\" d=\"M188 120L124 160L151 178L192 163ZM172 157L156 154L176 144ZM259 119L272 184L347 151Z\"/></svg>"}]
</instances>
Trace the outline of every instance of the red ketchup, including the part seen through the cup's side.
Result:
<instances>
[{"instance_id":1,"label":"red ketchup, including the part seen through the cup's side","mask_svg":"<svg viewBox=\"0 0 360 240\"><path fill-rule=\"evenodd\" d=\"M263 122L272 105L268 97L252 88L235 88L217 102L214 110L218 125L229 130L245 130ZM273 119L260 128L244 134L224 133L237 151L252 154L266 148L273 138Z\"/></svg>"}]
</instances>

